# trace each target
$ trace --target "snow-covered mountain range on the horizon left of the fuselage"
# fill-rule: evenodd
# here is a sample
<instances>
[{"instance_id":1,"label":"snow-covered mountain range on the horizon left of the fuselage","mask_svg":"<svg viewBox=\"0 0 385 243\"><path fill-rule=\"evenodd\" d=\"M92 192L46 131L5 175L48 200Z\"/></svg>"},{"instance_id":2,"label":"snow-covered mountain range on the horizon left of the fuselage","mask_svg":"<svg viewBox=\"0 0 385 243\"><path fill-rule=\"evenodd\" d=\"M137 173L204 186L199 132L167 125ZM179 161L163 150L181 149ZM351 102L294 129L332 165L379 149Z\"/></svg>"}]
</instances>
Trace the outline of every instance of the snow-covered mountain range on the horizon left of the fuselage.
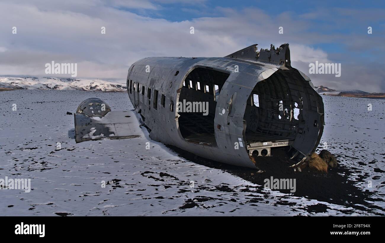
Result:
<instances>
[{"instance_id":1,"label":"snow-covered mountain range on the horizon left of the fuselage","mask_svg":"<svg viewBox=\"0 0 385 243\"><path fill-rule=\"evenodd\" d=\"M103 92L126 92L124 83L99 79L0 77L0 88L25 90L86 90Z\"/></svg>"}]
</instances>

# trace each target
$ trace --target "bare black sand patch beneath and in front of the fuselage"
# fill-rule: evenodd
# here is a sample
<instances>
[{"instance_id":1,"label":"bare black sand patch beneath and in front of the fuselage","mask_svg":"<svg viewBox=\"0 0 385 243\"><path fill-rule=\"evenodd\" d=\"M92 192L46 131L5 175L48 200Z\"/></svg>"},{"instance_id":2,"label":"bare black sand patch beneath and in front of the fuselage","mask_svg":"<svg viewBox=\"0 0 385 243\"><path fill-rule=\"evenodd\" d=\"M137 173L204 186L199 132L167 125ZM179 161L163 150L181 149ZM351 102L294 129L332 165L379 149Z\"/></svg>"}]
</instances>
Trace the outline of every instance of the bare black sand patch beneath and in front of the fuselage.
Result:
<instances>
[{"instance_id":1,"label":"bare black sand patch beneath and in front of the fuselage","mask_svg":"<svg viewBox=\"0 0 385 243\"><path fill-rule=\"evenodd\" d=\"M329 168L327 174L322 174L308 167L300 172L288 168L289 164L285 163L284 159L281 160L275 157L263 157L261 158L263 161L258 161L257 165L258 168L264 172L258 173L257 169L219 163L217 161L208 160L187 151L181 150L175 146L167 146L186 160L211 168L220 169L233 175L239 176L244 180L262 185L260 190L263 189L263 185L265 184L264 179L271 179L271 176L273 176L274 179L295 178L296 191L294 193L291 193L290 190L278 191L287 194L291 193L293 196L315 199L336 205L343 205L346 207L352 207L357 210L367 211L376 215L384 216L383 214L377 213L375 211L375 209L384 210L383 208L370 203L370 201L373 202L376 200L371 198L371 196L375 195L375 193L370 192L369 190L362 191L360 188L355 186L355 183L364 181L368 175L355 175L357 181L349 180L348 177L355 171L349 170L349 168L346 168L343 165L338 165L336 168ZM325 207L321 205L311 206L308 207L307 210L309 212L322 213L325 212Z\"/></svg>"}]
</instances>

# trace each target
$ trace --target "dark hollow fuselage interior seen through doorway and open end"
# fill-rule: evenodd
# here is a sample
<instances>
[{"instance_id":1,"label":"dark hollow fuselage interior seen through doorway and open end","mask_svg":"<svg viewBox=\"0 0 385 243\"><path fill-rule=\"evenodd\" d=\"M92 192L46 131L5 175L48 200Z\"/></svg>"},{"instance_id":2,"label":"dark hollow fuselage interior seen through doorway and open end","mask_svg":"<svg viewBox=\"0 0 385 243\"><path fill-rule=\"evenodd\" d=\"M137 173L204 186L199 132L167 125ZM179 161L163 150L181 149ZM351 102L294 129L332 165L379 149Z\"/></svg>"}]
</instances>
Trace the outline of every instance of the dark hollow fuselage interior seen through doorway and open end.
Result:
<instances>
[{"instance_id":1,"label":"dark hollow fuselage interior seen through doorway and open end","mask_svg":"<svg viewBox=\"0 0 385 243\"><path fill-rule=\"evenodd\" d=\"M186 77L179 96L179 130L191 143L216 145L215 108L228 73L198 67ZM305 123L318 127L321 121L305 120L303 108L318 112L314 90L297 70L278 70L256 83L244 112L246 146L251 156L270 156L278 147L293 143L303 133ZM311 98L313 97L313 98ZM314 99L314 100L313 100ZM207 115L202 110L186 111L188 102L208 102ZM192 104L193 107L194 104ZM294 150L296 152L296 150Z\"/></svg>"}]
</instances>

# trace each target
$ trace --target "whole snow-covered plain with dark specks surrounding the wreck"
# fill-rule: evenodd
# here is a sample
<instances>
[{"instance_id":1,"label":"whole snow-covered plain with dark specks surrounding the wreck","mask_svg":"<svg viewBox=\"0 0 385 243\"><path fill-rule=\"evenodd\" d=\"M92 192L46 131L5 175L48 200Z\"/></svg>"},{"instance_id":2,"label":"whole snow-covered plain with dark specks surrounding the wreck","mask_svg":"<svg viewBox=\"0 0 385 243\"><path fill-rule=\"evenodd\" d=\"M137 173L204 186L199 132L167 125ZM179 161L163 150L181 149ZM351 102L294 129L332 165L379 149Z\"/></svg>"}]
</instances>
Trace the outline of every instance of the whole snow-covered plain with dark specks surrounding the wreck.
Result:
<instances>
[{"instance_id":1,"label":"whole snow-covered plain with dark specks surrounding the wreck","mask_svg":"<svg viewBox=\"0 0 385 243\"><path fill-rule=\"evenodd\" d=\"M327 143L354 171L350 180L365 176L356 181L360 190L374 193L370 203L377 209L359 210L264 189L224 170L187 161L150 140L144 128L139 138L76 144L74 117L66 112L74 112L90 97L101 98L112 110L132 109L126 93L0 92L0 178L31 178L32 185L29 193L0 190L1 216L385 214L385 126L380 119L385 100L323 96L327 115L321 144ZM369 180L372 188L367 187ZM325 210L311 210L317 205Z\"/></svg>"}]
</instances>

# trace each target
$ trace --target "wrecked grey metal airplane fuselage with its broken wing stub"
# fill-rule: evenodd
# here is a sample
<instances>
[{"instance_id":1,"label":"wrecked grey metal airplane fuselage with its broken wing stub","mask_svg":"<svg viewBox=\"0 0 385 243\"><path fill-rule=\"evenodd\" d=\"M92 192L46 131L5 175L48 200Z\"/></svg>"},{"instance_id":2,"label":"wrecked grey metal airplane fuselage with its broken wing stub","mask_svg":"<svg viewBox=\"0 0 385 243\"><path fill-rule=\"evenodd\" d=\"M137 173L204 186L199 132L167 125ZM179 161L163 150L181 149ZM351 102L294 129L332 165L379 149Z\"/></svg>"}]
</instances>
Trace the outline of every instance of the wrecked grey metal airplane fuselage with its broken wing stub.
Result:
<instances>
[{"instance_id":1,"label":"wrecked grey metal airplane fuselage with its broken wing stub","mask_svg":"<svg viewBox=\"0 0 385 243\"><path fill-rule=\"evenodd\" d=\"M143 58L129 68L127 92L134 111L101 110L106 104L95 99L80 104L76 141L135 137L139 117L155 141L255 168L278 150L300 164L323 133L322 98L291 67L288 44L259 51L255 44L225 57Z\"/></svg>"}]
</instances>

